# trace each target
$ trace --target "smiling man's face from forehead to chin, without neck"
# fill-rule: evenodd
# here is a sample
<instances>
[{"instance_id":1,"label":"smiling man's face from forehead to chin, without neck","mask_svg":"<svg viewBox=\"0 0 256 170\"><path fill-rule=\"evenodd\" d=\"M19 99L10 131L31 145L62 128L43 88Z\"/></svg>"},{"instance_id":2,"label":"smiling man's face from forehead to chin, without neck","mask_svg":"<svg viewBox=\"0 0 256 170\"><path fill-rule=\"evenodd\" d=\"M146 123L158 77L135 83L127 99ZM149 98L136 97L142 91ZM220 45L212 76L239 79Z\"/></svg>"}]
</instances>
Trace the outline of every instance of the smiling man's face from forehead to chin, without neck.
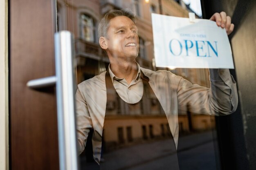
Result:
<instances>
[{"instance_id":1,"label":"smiling man's face from forehead to chin, without neck","mask_svg":"<svg viewBox=\"0 0 256 170\"><path fill-rule=\"evenodd\" d=\"M134 60L139 52L137 26L126 16L112 18L106 44L109 57L125 57L126 60Z\"/></svg>"}]
</instances>

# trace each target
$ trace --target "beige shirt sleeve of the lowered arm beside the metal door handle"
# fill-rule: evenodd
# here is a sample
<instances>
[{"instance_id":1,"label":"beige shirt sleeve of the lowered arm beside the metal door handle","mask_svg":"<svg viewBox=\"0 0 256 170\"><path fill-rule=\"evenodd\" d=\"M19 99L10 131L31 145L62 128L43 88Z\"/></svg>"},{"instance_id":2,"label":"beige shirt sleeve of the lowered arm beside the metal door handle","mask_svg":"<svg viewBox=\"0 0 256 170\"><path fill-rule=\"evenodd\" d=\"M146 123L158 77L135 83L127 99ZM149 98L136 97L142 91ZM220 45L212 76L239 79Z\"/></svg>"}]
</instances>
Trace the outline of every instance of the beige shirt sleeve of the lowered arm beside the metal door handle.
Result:
<instances>
[{"instance_id":1,"label":"beige shirt sleeve of the lowered arm beside the metal door handle","mask_svg":"<svg viewBox=\"0 0 256 170\"><path fill-rule=\"evenodd\" d=\"M83 97L78 88L76 91L76 135L78 139L79 155L85 148L90 129L92 129L92 120L88 111L85 97Z\"/></svg>"}]
</instances>

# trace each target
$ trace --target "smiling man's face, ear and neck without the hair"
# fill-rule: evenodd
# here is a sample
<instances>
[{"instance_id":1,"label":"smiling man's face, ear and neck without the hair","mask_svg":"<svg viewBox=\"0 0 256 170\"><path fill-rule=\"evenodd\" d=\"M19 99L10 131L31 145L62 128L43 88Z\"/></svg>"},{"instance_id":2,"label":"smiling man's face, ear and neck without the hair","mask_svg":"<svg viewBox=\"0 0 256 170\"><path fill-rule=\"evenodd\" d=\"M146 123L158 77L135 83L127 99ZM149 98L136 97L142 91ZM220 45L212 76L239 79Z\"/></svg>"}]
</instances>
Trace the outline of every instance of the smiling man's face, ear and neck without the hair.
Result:
<instances>
[{"instance_id":1,"label":"smiling man's face, ear and neck without the hair","mask_svg":"<svg viewBox=\"0 0 256 170\"><path fill-rule=\"evenodd\" d=\"M108 54L110 69L116 77L124 77L127 84L138 73L135 58L139 53L137 26L127 16L117 16L109 22L108 34L99 38L99 44Z\"/></svg>"}]
</instances>

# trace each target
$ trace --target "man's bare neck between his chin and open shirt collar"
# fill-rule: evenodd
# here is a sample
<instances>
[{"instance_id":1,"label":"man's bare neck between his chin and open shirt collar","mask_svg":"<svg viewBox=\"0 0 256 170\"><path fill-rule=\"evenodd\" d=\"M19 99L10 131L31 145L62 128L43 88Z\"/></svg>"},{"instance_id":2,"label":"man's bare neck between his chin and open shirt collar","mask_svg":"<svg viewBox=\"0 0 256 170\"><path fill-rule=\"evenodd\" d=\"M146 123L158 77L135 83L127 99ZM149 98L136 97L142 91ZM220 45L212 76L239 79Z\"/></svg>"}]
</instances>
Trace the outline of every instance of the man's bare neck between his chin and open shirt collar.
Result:
<instances>
[{"instance_id":1,"label":"man's bare neck between his chin and open shirt collar","mask_svg":"<svg viewBox=\"0 0 256 170\"><path fill-rule=\"evenodd\" d=\"M126 79L126 82L130 82L136 78L138 68L135 60L133 61L119 61L110 60L110 69L119 78Z\"/></svg>"}]
</instances>

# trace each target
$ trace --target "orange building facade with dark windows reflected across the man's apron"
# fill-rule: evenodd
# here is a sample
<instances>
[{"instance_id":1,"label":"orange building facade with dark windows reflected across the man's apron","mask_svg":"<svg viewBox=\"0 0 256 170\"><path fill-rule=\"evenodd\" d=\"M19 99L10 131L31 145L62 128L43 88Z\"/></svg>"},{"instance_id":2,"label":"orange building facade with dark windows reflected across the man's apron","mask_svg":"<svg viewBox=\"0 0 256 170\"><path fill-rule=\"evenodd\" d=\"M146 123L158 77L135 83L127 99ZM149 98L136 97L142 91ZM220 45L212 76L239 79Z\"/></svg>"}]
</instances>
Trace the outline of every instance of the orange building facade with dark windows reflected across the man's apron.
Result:
<instances>
[{"instance_id":1,"label":"orange building facade with dark windows reflected across the man's apron","mask_svg":"<svg viewBox=\"0 0 256 170\"><path fill-rule=\"evenodd\" d=\"M111 115L105 121L111 126L103 131L108 148L165 139L170 134L165 115Z\"/></svg>"}]
</instances>

